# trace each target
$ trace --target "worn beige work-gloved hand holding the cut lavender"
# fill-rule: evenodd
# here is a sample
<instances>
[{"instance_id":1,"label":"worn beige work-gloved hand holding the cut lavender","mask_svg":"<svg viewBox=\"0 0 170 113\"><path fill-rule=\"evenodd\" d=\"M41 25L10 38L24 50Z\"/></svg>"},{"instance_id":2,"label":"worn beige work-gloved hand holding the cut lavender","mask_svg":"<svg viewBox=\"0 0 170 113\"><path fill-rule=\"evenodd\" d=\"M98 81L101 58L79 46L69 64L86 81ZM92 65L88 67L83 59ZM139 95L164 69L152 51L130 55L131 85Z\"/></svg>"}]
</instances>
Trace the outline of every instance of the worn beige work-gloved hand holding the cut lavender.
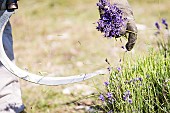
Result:
<instances>
[{"instance_id":1,"label":"worn beige work-gloved hand holding the cut lavender","mask_svg":"<svg viewBox=\"0 0 170 113\"><path fill-rule=\"evenodd\" d=\"M128 36L128 42L126 44L126 49L128 51L132 50L137 39L137 27L133 17L132 9L127 0L99 0L102 2L110 2L114 4L117 8L122 11L123 18L127 18L125 25L121 28L120 35ZM100 16L102 16L102 7L99 7ZM127 35L128 34L128 35Z\"/></svg>"}]
</instances>

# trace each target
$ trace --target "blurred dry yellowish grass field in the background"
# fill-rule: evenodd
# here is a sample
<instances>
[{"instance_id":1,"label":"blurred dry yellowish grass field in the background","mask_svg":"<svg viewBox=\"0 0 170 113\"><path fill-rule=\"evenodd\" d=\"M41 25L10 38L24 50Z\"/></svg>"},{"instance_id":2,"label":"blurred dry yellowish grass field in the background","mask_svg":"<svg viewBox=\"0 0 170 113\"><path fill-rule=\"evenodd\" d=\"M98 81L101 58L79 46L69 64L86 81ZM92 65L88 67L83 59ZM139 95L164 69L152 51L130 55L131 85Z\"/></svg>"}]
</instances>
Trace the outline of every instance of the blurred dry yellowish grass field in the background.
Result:
<instances>
[{"instance_id":1,"label":"blurred dry yellowish grass field in the background","mask_svg":"<svg viewBox=\"0 0 170 113\"><path fill-rule=\"evenodd\" d=\"M116 69L120 59L137 62L158 51L154 24L166 18L170 23L169 0L129 0L139 29L138 40L131 52L121 48L122 38L106 39L94 24L99 13L96 0L22 0L11 17L16 64L36 74L55 73L71 76L107 68L107 58ZM125 55L125 56L124 56ZM147 68L146 68L147 69ZM39 86L21 80L23 102L28 113L84 113L84 106L100 103L95 94L105 90L103 83L110 75L101 75L81 83L62 86ZM63 94L63 89L79 85L95 90L94 95L75 90ZM82 109L80 107L82 106Z\"/></svg>"}]
</instances>

